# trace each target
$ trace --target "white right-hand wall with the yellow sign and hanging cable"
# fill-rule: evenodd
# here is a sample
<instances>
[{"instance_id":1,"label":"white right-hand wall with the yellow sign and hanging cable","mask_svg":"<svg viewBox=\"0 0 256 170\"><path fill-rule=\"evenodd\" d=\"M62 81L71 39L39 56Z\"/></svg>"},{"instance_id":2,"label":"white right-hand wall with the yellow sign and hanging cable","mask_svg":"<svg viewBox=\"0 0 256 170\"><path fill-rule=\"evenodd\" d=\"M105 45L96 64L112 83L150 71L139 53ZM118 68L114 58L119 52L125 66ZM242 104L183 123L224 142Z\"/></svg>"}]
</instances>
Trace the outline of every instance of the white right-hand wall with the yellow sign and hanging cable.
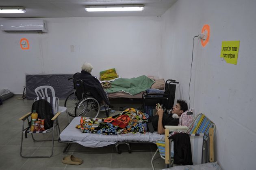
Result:
<instances>
[{"instance_id":1,"label":"white right-hand wall with the yellow sign and hanging cable","mask_svg":"<svg viewBox=\"0 0 256 170\"><path fill-rule=\"evenodd\" d=\"M160 76L179 81L187 101L192 39L210 26L206 47L195 38L191 106L216 124L215 159L224 170L255 169L255 7L255 0L178 0L162 15ZM237 65L220 58L221 42L232 40L240 40Z\"/></svg>"}]
</instances>

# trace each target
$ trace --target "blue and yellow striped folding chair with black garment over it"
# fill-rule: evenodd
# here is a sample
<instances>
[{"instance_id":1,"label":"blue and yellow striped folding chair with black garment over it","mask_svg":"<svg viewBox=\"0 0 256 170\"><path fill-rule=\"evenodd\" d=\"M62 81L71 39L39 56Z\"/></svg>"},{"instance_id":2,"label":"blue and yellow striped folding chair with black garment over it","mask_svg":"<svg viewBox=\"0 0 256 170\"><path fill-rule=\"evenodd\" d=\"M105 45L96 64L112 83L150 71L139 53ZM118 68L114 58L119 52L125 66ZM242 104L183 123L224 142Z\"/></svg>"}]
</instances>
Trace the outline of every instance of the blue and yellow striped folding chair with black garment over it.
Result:
<instances>
[{"instance_id":1,"label":"blue and yellow striped folding chair with black garment over it","mask_svg":"<svg viewBox=\"0 0 256 170\"><path fill-rule=\"evenodd\" d=\"M178 127L177 127L178 128ZM202 164L208 161L214 161L213 154L213 136L215 132L215 124L210 121L204 114L199 114L191 123L187 134L190 136L191 152L193 164ZM156 141L158 151L161 158L165 159L166 168L173 166L173 152L171 151L171 140L169 138L169 130L165 129L165 140ZM154 154L154 156L156 153ZM151 160L152 169L153 158Z\"/></svg>"}]
</instances>

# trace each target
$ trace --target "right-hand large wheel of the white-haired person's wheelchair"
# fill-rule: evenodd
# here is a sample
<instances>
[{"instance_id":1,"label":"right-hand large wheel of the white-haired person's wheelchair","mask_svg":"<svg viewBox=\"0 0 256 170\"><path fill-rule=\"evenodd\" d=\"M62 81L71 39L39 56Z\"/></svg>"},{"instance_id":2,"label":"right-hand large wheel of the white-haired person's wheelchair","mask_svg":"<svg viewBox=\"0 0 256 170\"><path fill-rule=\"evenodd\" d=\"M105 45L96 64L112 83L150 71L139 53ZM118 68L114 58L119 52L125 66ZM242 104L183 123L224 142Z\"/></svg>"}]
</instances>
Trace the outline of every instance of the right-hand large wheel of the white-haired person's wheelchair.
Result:
<instances>
[{"instance_id":1,"label":"right-hand large wheel of the white-haired person's wheelchair","mask_svg":"<svg viewBox=\"0 0 256 170\"><path fill-rule=\"evenodd\" d=\"M95 98L82 98L75 108L76 116L96 118L100 112L100 104Z\"/></svg>"}]
</instances>

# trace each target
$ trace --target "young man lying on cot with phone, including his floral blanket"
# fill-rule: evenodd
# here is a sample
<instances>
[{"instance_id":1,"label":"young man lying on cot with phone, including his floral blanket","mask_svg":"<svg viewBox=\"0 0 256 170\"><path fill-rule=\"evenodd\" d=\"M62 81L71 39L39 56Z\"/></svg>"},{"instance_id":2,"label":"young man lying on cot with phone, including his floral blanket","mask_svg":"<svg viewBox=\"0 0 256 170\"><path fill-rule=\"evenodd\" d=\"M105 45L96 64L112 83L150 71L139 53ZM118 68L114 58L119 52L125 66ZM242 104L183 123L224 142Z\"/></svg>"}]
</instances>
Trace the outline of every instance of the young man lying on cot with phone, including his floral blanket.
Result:
<instances>
[{"instance_id":1,"label":"young man lying on cot with phone, including his floral blanket","mask_svg":"<svg viewBox=\"0 0 256 170\"><path fill-rule=\"evenodd\" d=\"M103 119L81 117L80 124L76 128L82 133L97 133L97 134L126 134L126 133L145 133L147 122L152 122L154 130L158 134L164 133L165 125L178 125L179 119L176 116L181 116L184 110L187 110L187 103L184 100L178 100L173 107L172 114L163 114L163 109L157 107L157 113L148 119L140 110L128 108L122 113ZM176 116L174 116L177 114ZM176 118L175 118L176 117Z\"/></svg>"}]
</instances>

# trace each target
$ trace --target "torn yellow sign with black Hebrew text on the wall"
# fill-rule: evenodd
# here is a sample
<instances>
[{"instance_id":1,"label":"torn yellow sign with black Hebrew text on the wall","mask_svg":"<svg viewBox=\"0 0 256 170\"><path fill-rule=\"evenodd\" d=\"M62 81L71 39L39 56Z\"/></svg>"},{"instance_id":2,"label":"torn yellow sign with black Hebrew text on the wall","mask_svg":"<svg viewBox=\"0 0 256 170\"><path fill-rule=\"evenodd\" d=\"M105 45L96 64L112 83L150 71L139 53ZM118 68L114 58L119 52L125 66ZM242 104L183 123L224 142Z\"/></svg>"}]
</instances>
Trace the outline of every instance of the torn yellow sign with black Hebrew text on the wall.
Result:
<instances>
[{"instance_id":1,"label":"torn yellow sign with black Hebrew text on the wall","mask_svg":"<svg viewBox=\"0 0 256 170\"><path fill-rule=\"evenodd\" d=\"M237 64L240 41L222 41L221 55L227 63Z\"/></svg>"}]
</instances>

